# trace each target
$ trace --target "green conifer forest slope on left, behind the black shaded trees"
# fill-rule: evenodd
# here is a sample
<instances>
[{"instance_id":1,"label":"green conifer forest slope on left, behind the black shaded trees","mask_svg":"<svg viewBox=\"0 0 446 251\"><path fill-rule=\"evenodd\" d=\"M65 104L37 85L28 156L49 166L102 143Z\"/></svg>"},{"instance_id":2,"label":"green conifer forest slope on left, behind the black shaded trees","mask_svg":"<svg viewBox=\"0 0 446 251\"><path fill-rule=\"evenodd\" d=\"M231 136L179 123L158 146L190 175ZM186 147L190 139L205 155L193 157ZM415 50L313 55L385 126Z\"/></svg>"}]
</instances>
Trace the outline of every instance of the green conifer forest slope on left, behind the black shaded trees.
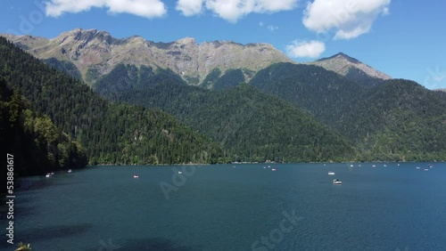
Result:
<instances>
[{"instance_id":1,"label":"green conifer forest slope on left, behind the black shaded trees","mask_svg":"<svg viewBox=\"0 0 446 251\"><path fill-rule=\"evenodd\" d=\"M80 142L90 164L223 161L217 143L167 113L104 100L4 38L0 38L0 77L13 91L21 91L37 117L47 116Z\"/></svg>"}]
</instances>

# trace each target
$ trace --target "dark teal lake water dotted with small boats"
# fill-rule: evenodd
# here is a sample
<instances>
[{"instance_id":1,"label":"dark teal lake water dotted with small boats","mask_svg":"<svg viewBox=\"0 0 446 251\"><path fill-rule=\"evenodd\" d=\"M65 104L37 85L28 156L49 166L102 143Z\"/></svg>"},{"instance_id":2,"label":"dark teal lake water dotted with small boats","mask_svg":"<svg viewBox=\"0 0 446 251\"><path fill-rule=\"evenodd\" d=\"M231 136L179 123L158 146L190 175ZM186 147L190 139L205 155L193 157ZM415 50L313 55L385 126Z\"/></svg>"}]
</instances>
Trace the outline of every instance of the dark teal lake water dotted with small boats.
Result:
<instances>
[{"instance_id":1,"label":"dark teal lake water dotted with small boats","mask_svg":"<svg viewBox=\"0 0 446 251\"><path fill-rule=\"evenodd\" d=\"M360 165L93 166L29 177L16 192L14 240L33 251L446 250L446 164Z\"/></svg>"}]
</instances>

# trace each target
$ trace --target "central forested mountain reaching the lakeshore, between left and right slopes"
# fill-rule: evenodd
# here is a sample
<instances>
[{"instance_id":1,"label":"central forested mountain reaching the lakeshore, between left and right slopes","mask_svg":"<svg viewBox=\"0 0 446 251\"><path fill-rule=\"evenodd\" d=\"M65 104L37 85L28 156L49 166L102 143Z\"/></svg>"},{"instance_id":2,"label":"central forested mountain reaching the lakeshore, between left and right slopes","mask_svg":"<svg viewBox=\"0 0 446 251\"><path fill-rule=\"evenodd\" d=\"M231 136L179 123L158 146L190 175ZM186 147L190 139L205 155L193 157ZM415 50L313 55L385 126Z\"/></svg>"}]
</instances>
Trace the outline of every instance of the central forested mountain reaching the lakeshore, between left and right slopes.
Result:
<instances>
[{"instance_id":1,"label":"central forested mountain reaching the lakeshore, between left and right slopes","mask_svg":"<svg viewBox=\"0 0 446 251\"><path fill-rule=\"evenodd\" d=\"M335 74L335 73L333 73ZM342 161L354 158L351 143L301 109L241 84L210 91L166 82L116 93L125 101L162 109L210 136L237 161Z\"/></svg>"}]
</instances>

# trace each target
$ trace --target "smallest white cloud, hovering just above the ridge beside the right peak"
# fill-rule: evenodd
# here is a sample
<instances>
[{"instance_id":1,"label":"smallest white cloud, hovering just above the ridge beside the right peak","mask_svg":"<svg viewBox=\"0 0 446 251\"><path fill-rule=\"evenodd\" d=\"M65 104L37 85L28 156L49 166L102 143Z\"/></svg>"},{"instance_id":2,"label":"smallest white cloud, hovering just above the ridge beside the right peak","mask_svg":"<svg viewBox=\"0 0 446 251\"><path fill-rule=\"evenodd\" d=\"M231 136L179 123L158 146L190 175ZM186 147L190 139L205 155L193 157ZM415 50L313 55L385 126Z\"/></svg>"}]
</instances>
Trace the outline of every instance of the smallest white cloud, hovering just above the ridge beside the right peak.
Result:
<instances>
[{"instance_id":1,"label":"smallest white cloud, hovering just above the ridge beside the right peak","mask_svg":"<svg viewBox=\"0 0 446 251\"><path fill-rule=\"evenodd\" d=\"M318 58L326 50L326 45L320 41L293 41L286 45L286 52L293 58Z\"/></svg>"}]
</instances>

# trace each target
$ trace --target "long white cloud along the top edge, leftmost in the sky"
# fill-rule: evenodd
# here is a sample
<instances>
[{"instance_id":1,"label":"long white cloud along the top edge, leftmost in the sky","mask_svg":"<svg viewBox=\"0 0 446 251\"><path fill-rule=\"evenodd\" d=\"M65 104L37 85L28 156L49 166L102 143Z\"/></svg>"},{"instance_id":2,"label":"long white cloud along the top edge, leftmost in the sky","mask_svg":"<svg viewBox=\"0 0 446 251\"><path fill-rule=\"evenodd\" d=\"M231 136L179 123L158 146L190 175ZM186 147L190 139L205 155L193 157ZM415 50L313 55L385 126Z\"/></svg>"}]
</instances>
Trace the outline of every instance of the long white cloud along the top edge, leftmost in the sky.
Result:
<instances>
[{"instance_id":1,"label":"long white cloud along the top edge, leftmost in the sky","mask_svg":"<svg viewBox=\"0 0 446 251\"><path fill-rule=\"evenodd\" d=\"M50 0L45 6L46 15L52 17L61 16L64 12L87 12L95 7L145 18L161 17L167 12L161 0Z\"/></svg>"}]
</instances>

